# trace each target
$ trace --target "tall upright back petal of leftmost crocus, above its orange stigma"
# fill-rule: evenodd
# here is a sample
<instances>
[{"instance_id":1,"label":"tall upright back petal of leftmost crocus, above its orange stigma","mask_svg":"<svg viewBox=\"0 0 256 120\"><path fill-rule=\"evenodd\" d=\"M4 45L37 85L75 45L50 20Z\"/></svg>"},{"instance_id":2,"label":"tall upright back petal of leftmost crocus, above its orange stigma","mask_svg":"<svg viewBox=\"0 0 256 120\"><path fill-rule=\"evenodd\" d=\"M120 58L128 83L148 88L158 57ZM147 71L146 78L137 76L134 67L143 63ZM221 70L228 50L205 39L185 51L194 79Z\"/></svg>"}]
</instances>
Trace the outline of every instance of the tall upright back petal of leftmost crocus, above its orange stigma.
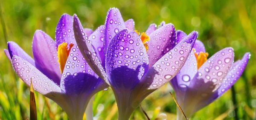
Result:
<instances>
[{"instance_id":1,"label":"tall upright back petal of leftmost crocus, above its orange stigma","mask_svg":"<svg viewBox=\"0 0 256 120\"><path fill-rule=\"evenodd\" d=\"M59 20L56 32L55 32L55 39L56 39L56 46L60 45L63 42L76 43L73 31L73 18L69 14L63 14L61 19Z\"/></svg>"}]
</instances>

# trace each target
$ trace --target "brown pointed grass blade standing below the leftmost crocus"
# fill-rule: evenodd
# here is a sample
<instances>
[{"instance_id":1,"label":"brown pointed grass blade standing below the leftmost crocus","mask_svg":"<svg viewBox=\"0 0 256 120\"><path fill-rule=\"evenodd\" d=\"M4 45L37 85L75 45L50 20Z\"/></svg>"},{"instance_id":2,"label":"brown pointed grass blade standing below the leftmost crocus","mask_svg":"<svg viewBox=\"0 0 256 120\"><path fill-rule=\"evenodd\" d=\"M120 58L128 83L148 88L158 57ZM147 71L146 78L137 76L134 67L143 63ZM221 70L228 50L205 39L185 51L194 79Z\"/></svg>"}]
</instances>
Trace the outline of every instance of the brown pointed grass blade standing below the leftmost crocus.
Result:
<instances>
[{"instance_id":1,"label":"brown pointed grass blade standing below the leftmost crocus","mask_svg":"<svg viewBox=\"0 0 256 120\"><path fill-rule=\"evenodd\" d=\"M35 93L32 84L32 79L30 79L30 120L37 120Z\"/></svg>"}]
</instances>

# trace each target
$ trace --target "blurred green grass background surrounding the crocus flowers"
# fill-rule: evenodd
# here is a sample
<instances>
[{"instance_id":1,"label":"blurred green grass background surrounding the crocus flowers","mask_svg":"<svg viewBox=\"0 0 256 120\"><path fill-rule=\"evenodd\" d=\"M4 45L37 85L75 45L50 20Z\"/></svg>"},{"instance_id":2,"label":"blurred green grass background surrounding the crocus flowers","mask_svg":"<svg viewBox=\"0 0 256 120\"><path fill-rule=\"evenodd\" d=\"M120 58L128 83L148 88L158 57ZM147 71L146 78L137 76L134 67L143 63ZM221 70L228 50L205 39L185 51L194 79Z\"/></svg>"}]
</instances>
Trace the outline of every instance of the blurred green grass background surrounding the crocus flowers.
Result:
<instances>
[{"instance_id":1,"label":"blurred green grass background surrounding the crocus flowers","mask_svg":"<svg viewBox=\"0 0 256 120\"><path fill-rule=\"evenodd\" d=\"M233 47L235 60L245 52L251 59L234 86L214 103L192 116L192 120L256 120L256 0L0 0L0 119L29 117L29 88L14 73L3 53L6 41L17 42L32 55L31 42L37 29L55 37L62 14L77 14L86 28L93 30L105 22L109 8L117 7L124 20L134 19L138 31L151 23L172 22L176 30L198 31L209 56L224 47ZM170 85L149 95L142 106L151 120L175 120L176 105ZM235 92L234 92L235 91ZM234 98L236 105L233 105ZM195 98L196 99L196 98ZM54 102L36 93L39 120L67 120ZM235 109L236 108L236 109ZM235 109L235 111L234 111ZM117 109L111 89L96 94L96 120L116 120ZM237 116L235 114L237 113ZM138 108L132 120L145 120Z\"/></svg>"}]
</instances>

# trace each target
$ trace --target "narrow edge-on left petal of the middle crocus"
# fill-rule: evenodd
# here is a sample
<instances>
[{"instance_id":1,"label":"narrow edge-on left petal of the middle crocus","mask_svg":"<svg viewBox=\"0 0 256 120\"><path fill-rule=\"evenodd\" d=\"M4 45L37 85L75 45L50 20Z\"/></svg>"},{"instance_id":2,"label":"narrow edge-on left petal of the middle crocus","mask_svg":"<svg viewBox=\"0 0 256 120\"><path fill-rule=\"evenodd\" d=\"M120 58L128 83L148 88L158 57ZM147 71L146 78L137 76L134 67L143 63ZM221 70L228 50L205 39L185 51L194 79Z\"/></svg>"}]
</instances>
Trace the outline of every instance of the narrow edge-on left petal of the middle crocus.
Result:
<instances>
[{"instance_id":1,"label":"narrow edge-on left petal of the middle crocus","mask_svg":"<svg viewBox=\"0 0 256 120\"><path fill-rule=\"evenodd\" d=\"M82 27L81 22L76 14L74 14L73 19L73 28L79 50L93 71L108 83L107 75L102 67L100 57L94 51L92 42L88 40L88 37L84 33L84 28Z\"/></svg>"}]
</instances>

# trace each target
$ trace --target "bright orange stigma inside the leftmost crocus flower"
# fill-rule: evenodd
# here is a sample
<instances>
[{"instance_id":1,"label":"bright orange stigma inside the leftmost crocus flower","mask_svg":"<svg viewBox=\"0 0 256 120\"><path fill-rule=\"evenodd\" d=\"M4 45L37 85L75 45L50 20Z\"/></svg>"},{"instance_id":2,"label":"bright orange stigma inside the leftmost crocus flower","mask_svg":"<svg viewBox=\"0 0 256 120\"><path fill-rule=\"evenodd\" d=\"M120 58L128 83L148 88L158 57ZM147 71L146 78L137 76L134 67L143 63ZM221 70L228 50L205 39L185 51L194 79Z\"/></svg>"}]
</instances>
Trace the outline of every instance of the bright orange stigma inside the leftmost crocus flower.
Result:
<instances>
[{"instance_id":1,"label":"bright orange stigma inside the leftmost crocus flower","mask_svg":"<svg viewBox=\"0 0 256 120\"><path fill-rule=\"evenodd\" d=\"M60 45L58 45L58 63L60 64L60 70L61 74L63 73L67 57L70 53L71 47L73 47L74 44L70 43L69 48L67 47L67 42L63 42Z\"/></svg>"}]
</instances>

